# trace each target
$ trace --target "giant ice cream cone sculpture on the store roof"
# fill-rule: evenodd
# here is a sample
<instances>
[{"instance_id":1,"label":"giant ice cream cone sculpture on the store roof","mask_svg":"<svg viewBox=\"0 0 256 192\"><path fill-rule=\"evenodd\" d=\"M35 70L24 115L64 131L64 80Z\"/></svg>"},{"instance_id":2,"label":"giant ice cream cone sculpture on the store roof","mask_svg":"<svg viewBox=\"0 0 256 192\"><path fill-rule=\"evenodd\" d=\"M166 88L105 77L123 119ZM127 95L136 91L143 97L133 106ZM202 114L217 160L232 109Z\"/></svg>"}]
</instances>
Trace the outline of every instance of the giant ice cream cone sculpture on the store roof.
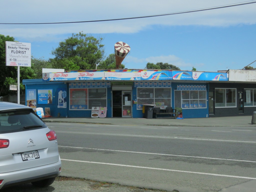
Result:
<instances>
[{"instance_id":1,"label":"giant ice cream cone sculpture on the store roof","mask_svg":"<svg viewBox=\"0 0 256 192\"><path fill-rule=\"evenodd\" d=\"M131 50L130 46L122 41L119 41L115 44L115 66L116 69L119 69L122 61L125 56Z\"/></svg>"}]
</instances>

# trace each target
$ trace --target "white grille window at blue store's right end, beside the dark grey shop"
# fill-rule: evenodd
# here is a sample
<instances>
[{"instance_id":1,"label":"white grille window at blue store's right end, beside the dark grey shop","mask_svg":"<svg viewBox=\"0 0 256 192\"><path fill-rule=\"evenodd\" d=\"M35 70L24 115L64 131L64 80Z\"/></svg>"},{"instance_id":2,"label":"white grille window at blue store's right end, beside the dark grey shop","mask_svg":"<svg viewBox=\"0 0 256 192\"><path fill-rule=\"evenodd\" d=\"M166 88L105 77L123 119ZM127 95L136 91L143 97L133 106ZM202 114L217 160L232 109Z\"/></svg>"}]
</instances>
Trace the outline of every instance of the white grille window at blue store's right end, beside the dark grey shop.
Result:
<instances>
[{"instance_id":1,"label":"white grille window at blue store's right end, beside the dark grey shop","mask_svg":"<svg viewBox=\"0 0 256 192\"><path fill-rule=\"evenodd\" d=\"M175 108L206 108L206 90L175 90Z\"/></svg>"}]
</instances>

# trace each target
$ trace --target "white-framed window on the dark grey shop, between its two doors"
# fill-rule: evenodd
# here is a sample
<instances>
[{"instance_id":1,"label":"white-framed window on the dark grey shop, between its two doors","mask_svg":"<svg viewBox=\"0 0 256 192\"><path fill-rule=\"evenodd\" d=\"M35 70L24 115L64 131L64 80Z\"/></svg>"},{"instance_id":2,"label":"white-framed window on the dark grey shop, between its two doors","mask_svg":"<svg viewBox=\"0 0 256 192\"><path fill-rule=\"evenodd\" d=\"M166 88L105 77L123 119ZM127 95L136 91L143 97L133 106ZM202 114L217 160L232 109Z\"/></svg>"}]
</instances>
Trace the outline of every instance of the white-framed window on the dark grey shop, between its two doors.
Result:
<instances>
[{"instance_id":1,"label":"white-framed window on the dark grey shop, between its two doors","mask_svg":"<svg viewBox=\"0 0 256 192\"><path fill-rule=\"evenodd\" d=\"M236 107L236 89L215 89L215 107Z\"/></svg>"}]
</instances>

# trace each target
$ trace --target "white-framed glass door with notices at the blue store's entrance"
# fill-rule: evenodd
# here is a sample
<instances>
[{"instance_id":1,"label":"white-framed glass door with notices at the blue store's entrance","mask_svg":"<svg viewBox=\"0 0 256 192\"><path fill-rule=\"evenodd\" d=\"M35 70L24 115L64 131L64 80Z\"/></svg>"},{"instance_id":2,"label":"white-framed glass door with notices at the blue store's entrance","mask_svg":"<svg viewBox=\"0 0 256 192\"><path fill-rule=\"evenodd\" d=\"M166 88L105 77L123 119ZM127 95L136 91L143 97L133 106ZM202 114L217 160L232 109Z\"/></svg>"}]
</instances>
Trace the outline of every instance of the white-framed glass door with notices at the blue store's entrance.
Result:
<instances>
[{"instance_id":1,"label":"white-framed glass door with notices at the blue store's entrance","mask_svg":"<svg viewBox=\"0 0 256 192\"><path fill-rule=\"evenodd\" d=\"M122 91L122 117L132 117L131 91Z\"/></svg>"}]
</instances>

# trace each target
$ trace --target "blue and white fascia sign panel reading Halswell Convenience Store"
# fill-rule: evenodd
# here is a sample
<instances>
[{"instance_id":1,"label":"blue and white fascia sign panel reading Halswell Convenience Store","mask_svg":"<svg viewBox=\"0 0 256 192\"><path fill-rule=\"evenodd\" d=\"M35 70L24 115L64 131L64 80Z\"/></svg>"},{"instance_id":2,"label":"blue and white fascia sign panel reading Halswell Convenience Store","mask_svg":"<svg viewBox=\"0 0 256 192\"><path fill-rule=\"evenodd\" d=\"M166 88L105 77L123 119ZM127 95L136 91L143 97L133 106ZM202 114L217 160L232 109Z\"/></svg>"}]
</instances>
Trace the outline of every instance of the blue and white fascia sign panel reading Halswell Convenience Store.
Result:
<instances>
[{"instance_id":1,"label":"blue and white fascia sign panel reading Halswell Convenience Store","mask_svg":"<svg viewBox=\"0 0 256 192\"><path fill-rule=\"evenodd\" d=\"M172 80L172 71L141 71L141 80Z\"/></svg>"}]
</instances>

